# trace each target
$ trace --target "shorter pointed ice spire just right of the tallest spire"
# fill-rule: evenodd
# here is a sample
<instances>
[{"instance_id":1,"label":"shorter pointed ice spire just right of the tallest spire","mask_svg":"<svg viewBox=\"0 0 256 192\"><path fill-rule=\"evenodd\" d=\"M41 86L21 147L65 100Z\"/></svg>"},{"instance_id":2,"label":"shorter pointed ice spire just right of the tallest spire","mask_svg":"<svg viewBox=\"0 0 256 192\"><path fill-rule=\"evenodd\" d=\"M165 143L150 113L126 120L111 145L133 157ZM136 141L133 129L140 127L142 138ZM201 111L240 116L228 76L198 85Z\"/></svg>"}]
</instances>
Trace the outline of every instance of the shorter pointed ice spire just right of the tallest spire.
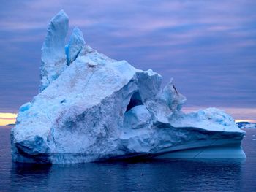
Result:
<instances>
[{"instance_id":1,"label":"shorter pointed ice spire just right of the tallest spire","mask_svg":"<svg viewBox=\"0 0 256 192\"><path fill-rule=\"evenodd\" d=\"M67 64L69 65L72 61L75 61L75 58L78 57L80 50L82 50L83 45L85 45L83 39L83 33L79 28L75 27L72 35L69 40L69 44L66 45L66 54L67 54Z\"/></svg>"}]
</instances>

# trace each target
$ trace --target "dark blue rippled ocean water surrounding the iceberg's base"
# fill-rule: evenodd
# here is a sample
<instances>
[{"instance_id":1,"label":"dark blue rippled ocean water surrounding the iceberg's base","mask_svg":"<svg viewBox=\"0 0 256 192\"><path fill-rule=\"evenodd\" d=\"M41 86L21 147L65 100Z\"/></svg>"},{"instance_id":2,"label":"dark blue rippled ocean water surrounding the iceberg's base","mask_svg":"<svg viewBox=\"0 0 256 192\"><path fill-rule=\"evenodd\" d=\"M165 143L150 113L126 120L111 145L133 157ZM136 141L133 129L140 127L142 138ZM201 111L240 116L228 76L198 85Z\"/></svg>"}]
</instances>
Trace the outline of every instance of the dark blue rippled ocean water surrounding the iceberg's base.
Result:
<instances>
[{"instance_id":1,"label":"dark blue rippled ocean water surrounding the iceberg's base","mask_svg":"<svg viewBox=\"0 0 256 192\"><path fill-rule=\"evenodd\" d=\"M15 164L10 127L0 127L0 191L256 191L256 129L246 160L172 160L69 165Z\"/></svg>"}]
</instances>

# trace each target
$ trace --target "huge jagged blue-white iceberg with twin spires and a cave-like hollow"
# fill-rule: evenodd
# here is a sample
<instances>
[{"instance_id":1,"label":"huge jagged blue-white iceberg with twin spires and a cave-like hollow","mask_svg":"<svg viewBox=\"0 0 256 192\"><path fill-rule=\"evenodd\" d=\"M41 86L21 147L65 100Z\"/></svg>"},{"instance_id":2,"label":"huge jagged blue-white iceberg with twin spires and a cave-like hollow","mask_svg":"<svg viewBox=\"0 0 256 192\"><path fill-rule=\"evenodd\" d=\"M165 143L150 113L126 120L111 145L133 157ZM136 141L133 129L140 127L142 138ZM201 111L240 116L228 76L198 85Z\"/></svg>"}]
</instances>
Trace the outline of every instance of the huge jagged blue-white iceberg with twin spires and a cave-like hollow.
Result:
<instances>
[{"instance_id":1,"label":"huge jagged blue-white iceberg with twin spires and a cave-like hollow","mask_svg":"<svg viewBox=\"0 0 256 192\"><path fill-rule=\"evenodd\" d=\"M86 45L68 17L53 18L42 45L40 93L20 107L12 159L83 163L124 158L245 158L245 132L210 108L185 114L173 80L135 69Z\"/></svg>"}]
</instances>

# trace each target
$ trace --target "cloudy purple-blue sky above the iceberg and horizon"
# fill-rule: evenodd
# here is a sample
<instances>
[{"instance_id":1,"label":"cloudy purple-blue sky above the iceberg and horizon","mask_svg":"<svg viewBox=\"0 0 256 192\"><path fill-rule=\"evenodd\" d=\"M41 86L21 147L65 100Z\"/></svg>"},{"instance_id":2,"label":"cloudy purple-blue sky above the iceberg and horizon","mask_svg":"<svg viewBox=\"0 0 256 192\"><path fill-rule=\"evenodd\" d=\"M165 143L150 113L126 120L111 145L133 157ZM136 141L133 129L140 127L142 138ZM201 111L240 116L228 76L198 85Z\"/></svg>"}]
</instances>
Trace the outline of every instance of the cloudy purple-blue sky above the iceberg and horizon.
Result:
<instances>
[{"instance_id":1,"label":"cloudy purple-blue sky above the iceberg and horizon","mask_svg":"<svg viewBox=\"0 0 256 192\"><path fill-rule=\"evenodd\" d=\"M173 77L184 110L256 120L255 0L1 0L0 113L37 95L42 42L61 9L69 34L78 26L100 53L159 72L163 85Z\"/></svg>"}]
</instances>

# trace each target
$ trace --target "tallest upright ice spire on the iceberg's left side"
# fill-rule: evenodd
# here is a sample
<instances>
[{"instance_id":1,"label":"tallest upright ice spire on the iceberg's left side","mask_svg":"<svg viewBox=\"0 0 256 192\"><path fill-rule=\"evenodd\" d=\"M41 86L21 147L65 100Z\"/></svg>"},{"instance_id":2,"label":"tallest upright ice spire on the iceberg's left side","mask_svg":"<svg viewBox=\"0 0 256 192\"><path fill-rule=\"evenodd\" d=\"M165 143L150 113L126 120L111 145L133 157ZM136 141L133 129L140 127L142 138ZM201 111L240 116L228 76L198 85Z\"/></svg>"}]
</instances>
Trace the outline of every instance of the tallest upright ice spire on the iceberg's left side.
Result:
<instances>
[{"instance_id":1,"label":"tallest upright ice spire on the iceberg's left side","mask_svg":"<svg viewBox=\"0 0 256 192\"><path fill-rule=\"evenodd\" d=\"M41 85L39 91L43 91L50 82L56 80L59 74L67 67L65 54L65 39L69 28L69 18L61 10L48 26L45 42L42 45L41 55Z\"/></svg>"}]
</instances>

